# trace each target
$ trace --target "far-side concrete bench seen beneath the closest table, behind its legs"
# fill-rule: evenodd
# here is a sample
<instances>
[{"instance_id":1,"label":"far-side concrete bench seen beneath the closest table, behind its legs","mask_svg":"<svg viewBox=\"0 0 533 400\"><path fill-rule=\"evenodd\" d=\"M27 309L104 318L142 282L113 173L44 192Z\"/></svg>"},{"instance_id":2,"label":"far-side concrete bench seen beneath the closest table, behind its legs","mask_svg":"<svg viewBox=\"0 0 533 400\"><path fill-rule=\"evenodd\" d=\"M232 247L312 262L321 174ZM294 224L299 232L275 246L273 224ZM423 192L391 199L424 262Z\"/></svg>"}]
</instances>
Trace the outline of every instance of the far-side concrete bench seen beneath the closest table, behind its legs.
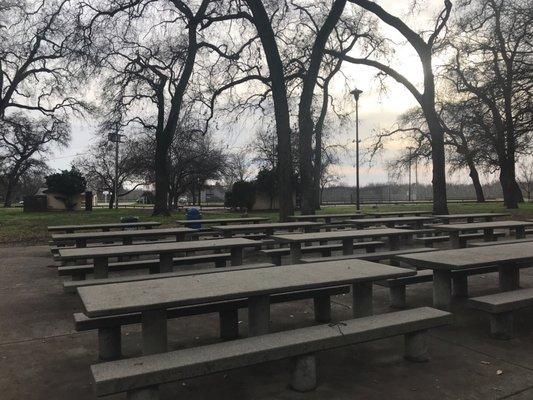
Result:
<instances>
[{"instance_id":1,"label":"far-side concrete bench seen beneath the closest table, behind its legs","mask_svg":"<svg viewBox=\"0 0 533 400\"><path fill-rule=\"evenodd\" d=\"M335 286L328 288L306 289L296 292L280 293L270 296L270 304L287 303L291 301L312 299L315 297L337 296L350 293L349 286ZM225 310L247 308L248 300L221 301L216 303L201 304L195 306L171 308L167 310L167 319L187 317L192 315L202 315L210 313L221 313ZM316 310L316 309L315 309ZM328 318L315 312L315 320L319 323L328 322ZM121 357L123 325L132 325L141 323L141 314L123 314L112 317L89 318L83 313L74 314L74 327L76 331L98 330L98 355L101 360L116 360ZM223 327L220 327L220 337L225 337ZM235 337L231 337L234 339Z\"/></svg>"}]
</instances>

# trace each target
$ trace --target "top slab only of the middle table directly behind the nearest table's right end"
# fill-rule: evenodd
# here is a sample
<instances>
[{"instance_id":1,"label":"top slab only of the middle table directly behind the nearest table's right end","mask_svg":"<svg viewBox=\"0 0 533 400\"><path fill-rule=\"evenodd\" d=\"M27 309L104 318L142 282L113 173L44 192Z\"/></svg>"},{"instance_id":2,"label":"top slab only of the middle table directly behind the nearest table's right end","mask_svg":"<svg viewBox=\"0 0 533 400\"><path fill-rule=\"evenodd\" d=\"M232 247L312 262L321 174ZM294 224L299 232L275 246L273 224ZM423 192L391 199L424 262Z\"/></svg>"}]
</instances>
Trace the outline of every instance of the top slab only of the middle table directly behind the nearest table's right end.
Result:
<instances>
[{"instance_id":1,"label":"top slab only of the middle table directly behind the nearest table's right end","mask_svg":"<svg viewBox=\"0 0 533 400\"><path fill-rule=\"evenodd\" d=\"M401 234L412 234L411 229L382 228L382 229L360 229L360 230L339 230L331 232L310 232L292 233L288 235L272 235L271 237L281 242L306 242L315 240L342 240L351 238L396 236Z\"/></svg>"}]
</instances>

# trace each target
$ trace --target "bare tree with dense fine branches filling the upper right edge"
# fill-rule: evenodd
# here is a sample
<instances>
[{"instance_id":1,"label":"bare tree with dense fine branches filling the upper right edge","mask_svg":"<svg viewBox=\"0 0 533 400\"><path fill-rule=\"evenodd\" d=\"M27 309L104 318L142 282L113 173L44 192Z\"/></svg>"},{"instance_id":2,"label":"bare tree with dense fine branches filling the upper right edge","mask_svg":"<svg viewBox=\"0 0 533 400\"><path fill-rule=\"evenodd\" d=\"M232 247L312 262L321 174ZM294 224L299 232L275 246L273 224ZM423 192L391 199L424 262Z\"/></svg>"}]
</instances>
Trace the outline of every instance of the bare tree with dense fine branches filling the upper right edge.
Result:
<instances>
[{"instance_id":1,"label":"bare tree with dense fine branches filling the upper right edge","mask_svg":"<svg viewBox=\"0 0 533 400\"><path fill-rule=\"evenodd\" d=\"M475 146L500 171L504 203L523 201L516 181L516 156L531 151L533 13L527 1L463 1L451 45L448 77L475 104L483 135Z\"/></svg>"}]
</instances>

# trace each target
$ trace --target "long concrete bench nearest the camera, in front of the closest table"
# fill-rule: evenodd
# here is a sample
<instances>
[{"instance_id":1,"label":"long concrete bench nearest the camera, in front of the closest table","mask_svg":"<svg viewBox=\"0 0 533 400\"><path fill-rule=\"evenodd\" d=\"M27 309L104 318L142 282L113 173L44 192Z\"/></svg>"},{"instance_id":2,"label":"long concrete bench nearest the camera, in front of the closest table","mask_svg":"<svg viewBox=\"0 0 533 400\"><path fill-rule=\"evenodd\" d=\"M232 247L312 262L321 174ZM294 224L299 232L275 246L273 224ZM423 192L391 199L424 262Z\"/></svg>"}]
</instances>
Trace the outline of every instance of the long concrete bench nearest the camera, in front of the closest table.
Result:
<instances>
[{"instance_id":1,"label":"long concrete bench nearest the camera, in front of the closest table","mask_svg":"<svg viewBox=\"0 0 533 400\"><path fill-rule=\"evenodd\" d=\"M418 308L110 361L91 366L91 373L98 397L127 392L128 399L148 400L158 398L158 386L164 383L289 358L290 386L305 392L317 386L317 352L404 335L404 357L424 362L427 330L451 321L447 312Z\"/></svg>"}]
</instances>

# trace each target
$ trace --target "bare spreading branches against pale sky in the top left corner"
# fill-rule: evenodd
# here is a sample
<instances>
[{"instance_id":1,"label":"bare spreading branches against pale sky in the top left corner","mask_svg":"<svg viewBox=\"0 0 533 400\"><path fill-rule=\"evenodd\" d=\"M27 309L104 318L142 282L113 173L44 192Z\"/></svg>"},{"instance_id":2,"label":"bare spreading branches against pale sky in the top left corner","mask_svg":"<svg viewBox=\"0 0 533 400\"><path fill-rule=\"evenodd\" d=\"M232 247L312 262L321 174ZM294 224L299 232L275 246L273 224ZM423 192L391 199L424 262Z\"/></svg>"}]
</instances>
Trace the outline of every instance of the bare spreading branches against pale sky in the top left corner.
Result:
<instances>
[{"instance_id":1,"label":"bare spreading branches against pale sky in the top left corner","mask_svg":"<svg viewBox=\"0 0 533 400\"><path fill-rule=\"evenodd\" d=\"M49 116L84 110L72 96L81 69L70 2L4 1L0 18L0 119L9 109Z\"/></svg>"}]
</instances>

